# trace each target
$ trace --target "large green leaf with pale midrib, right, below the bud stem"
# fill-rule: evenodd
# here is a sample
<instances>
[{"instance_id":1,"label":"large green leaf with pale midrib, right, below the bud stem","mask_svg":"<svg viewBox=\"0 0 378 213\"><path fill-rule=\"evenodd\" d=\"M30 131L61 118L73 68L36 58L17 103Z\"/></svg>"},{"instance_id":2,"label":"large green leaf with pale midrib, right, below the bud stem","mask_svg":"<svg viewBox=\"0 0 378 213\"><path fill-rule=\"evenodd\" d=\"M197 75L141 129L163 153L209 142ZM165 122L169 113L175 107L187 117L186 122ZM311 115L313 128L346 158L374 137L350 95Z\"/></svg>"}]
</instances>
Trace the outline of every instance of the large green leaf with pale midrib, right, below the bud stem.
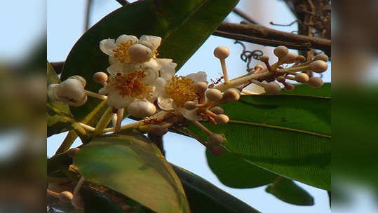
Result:
<instances>
[{"instance_id":1,"label":"large green leaf with pale midrib, right, below the bud stem","mask_svg":"<svg viewBox=\"0 0 378 213\"><path fill-rule=\"evenodd\" d=\"M245 162L330 189L330 103L326 97L244 96L239 102L222 104L231 119L227 125L204 124L224 134L224 146ZM206 139L198 128L189 128ZM217 157L209 155L212 162L209 158Z\"/></svg>"}]
</instances>

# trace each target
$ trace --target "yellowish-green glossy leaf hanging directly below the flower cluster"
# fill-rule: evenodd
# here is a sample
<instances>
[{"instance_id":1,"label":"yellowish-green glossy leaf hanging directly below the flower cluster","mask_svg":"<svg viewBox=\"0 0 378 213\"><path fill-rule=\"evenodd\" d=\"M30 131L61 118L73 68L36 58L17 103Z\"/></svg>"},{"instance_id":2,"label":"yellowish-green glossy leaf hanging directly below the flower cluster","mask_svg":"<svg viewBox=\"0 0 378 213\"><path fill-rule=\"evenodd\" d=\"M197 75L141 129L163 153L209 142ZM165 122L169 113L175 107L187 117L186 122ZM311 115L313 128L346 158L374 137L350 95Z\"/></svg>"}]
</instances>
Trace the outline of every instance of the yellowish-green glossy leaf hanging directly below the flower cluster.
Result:
<instances>
[{"instance_id":1,"label":"yellowish-green glossy leaf hanging directly below the flower cluster","mask_svg":"<svg viewBox=\"0 0 378 213\"><path fill-rule=\"evenodd\" d=\"M106 135L81 146L74 165L87 181L155 212L190 212L184 189L158 148L143 135Z\"/></svg>"}]
</instances>

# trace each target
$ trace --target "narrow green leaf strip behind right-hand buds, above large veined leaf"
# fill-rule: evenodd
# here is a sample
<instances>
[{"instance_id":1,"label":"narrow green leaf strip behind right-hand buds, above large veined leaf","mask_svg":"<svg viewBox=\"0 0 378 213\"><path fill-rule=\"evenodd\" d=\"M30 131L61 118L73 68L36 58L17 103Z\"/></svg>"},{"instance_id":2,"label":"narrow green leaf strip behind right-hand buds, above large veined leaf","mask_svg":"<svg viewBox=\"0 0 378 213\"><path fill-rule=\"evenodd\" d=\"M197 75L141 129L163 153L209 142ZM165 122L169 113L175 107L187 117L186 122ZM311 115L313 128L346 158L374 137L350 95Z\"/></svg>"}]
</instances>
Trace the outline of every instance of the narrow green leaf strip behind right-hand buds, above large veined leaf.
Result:
<instances>
[{"instance_id":1,"label":"narrow green leaf strip behind right-hand buds, above large veined leaf","mask_svg":"<svg viewBox=\"0 0 378 213\"><path fill-rule=\"evenodd\" d=\"M295 84L295 90L282 90L281 94L331 97L331 83L324 83L320 88L311 88L306 84Z\"/></svg>"}]
</instances>

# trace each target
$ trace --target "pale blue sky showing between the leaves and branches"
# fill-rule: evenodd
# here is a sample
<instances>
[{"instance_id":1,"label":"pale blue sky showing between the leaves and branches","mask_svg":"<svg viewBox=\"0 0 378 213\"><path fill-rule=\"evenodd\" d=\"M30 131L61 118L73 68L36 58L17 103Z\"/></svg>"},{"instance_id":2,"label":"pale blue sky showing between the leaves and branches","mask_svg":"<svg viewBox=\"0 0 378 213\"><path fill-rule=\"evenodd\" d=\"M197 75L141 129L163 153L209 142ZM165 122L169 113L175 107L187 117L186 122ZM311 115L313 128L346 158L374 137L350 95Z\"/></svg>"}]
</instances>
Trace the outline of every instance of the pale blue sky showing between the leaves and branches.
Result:
<instances>
[{"instance_id":1,"label":"pale blue sky showing between the leaves and branches","mask_svg":"<svg viewBox=\"0 0 378 213\"><path fill-rule=\"evenodd\" d=\"M119 4L114 1L93 1L93 13L90 24L93 25L97 20L107 15L114 9L119 8ZM48 1L47 5L47 41L48 41L48 60L50 62L58 62L65 60L69 50L72 48L77 39L83 34L84 26L84 9L86 1L84 0L66 0L66 1ZM283 5L282 1L254 1L254 7L248 1L241 0L238 5L245 12L250 12L255 19L268 26L269 21L276 23L290 23L295 20L290 12ZM256 6L257 5L257 6ZM264 5L264 7L259 7ZM247 9L250 8L250 9ZM238 22L241 19L236 15L229 15L227 18L230 22ZM276 27L277 29L291 32L295 27ZM120 32L122 34L122 32ZM106 39L106 38L104 38ZM220 76L220 64L217 58L212 56L212 50L217 46L228 46L231 55L227 58L227 67L230 76L237 76L245 72L245 64L240 60L241 46L235 45L233 40L223 39L217 36L210 38L198 49L198 51L184 64L179 74L185 75L194 71L203 70L208 73L208 79ZM271 52L272 48L264 48L262 46L249 45L248 49L264 50L264 53ZM100 49L99 49L100 50ZM255 62L252 62L252 64ZM330 81L330 71L325 74L325 81ZM128 122L128 121L126 121ZM52 156L58 148L59 143L64 139L65 134L54 135L48 139L48 156ZM209 169L205 159L204 147L189 137L183 137L174 133L168 133L164 136L166 158L168 161L175 163L185 169L208 179L216 186L224 191L231 193L237 198L247 202L252 207L262 212L330 212L328 205L328 195L325 191L304 184L306 191L309 191L315 198L315 205L312 207L299 207L290 205L278 200L273 195L264 191L264 186L251 189L235 189L224 186L217 179L215 174ZM74 146L79 145L76 142Z\"/></svg>"}]
</instances>

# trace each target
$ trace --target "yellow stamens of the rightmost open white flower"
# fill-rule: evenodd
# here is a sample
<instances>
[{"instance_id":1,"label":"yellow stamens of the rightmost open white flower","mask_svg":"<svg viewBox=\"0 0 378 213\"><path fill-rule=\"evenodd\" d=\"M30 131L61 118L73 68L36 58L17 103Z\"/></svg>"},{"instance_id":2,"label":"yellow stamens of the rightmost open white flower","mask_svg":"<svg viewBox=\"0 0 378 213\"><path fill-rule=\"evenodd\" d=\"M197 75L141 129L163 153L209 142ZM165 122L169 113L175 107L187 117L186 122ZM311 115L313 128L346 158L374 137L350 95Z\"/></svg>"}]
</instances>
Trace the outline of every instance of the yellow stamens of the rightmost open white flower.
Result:
<instances>
[{"instance_id":1,"label":"yellow stamens of the rightmost open white flower","mask_svg":"<svg viewBox=\"0 0 378 213\"><path fill-rule=\"evenodd\" d=\"M172 83L166 87L166 93L177 107L184 107L185 102L198 97L194 81L184 76L172 76Z\"/></svg>"}]
</instances>

